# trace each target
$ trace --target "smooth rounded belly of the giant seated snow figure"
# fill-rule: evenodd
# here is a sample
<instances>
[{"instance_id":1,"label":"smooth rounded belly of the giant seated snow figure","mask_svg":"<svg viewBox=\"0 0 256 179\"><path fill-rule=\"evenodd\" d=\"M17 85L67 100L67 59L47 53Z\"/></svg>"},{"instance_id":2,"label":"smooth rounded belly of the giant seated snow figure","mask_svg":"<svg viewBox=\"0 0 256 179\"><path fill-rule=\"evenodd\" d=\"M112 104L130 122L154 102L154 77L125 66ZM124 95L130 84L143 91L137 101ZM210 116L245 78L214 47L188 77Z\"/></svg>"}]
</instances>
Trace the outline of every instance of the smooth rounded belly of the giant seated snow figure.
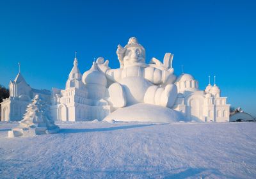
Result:
<instances>
[{"instance_id":1,"label":"smooth rounded belly of the giant seated snow figure","mask_svg":"<svg viewBox=\"0 0 256 179\"><path fill-rule=\"evenodd\" d=\"M127 105L144 101L144 95L152 83L143 77L125 77L120 81L124 87Z\"/></svg>"}]
</instances>

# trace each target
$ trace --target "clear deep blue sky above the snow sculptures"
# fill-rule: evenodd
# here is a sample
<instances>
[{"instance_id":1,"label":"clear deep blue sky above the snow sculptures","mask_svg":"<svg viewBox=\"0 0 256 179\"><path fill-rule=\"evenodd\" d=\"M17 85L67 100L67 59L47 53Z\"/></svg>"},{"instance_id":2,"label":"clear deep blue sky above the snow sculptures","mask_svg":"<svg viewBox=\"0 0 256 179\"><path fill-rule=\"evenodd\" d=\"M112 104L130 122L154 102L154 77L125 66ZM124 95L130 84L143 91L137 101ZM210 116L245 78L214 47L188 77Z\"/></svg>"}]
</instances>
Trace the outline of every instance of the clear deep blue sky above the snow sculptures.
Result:
<instances>
[{"instance_id":1,"label":"clear deep blue sky above the snow sculptures","mask_svg":"<svg viewBox=\"0 0 256 179\"><path fill-rule=\"evenodd\" d=\"M116 46L136 36L147 61L174 54L175 74L208 75L228 103L256 116L255 1L0 1L0 84L21 72L33 88L64 88L77 51L118 68Z\"/></svg>"}]
</instances>

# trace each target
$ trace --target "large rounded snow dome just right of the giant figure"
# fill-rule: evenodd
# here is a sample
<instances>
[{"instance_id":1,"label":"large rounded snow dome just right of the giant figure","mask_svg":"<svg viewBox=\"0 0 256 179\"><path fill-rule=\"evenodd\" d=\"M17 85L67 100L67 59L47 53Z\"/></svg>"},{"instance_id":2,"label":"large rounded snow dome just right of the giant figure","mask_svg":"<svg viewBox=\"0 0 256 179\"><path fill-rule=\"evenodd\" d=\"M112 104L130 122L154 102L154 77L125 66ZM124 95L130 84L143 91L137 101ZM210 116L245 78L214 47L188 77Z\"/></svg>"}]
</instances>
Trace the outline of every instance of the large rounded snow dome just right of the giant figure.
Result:
<instances>
[{"instance_id":1,"label":"large rounded snow dome just right of the giant figure","mask_svg":"<svg viewBox=\"0 0 256 179\"><path fill-rule=\"evenodd\" d=\"M181 74L175 82L178 93L183 93L184 91L196 91L198 90L198 82L190 74Z\"/></svg>"}]
</instances>

